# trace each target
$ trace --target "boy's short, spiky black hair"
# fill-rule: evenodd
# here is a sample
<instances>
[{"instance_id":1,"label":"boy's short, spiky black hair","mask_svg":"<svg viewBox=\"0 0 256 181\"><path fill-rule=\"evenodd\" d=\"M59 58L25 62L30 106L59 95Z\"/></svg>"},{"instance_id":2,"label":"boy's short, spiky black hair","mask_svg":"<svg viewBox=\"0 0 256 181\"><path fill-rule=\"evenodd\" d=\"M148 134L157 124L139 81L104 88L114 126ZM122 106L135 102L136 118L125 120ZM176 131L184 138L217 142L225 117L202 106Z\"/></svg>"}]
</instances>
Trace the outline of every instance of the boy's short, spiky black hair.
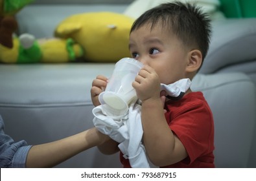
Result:
<instances>
[{"instance_id":1,"label":"boy's short, spiky black hair","mask_svg":"<svg viewBox=\"0 0 256 181\"><path fill-rule=\"evenodd\" d=\"M159 23L168 26L184 45L200 50L204 60L209 48L211 24L209 16L200 7L180 2L163 3L142 14L130 32L148 23L152 23L151 28Z\"/></svg>"}]
</instances>

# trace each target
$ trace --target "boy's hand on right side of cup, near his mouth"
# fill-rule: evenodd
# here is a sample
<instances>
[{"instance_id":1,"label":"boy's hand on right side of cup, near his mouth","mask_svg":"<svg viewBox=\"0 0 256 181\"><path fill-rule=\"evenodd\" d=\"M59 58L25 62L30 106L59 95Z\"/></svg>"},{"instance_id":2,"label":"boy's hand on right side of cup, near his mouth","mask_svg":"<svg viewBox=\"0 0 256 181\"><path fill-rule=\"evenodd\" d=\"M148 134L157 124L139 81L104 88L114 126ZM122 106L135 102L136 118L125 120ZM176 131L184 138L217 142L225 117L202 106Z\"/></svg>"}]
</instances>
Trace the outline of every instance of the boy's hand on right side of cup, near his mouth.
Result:
<instances>
[{"instance_id":1,"label":"boy's hand on right side of cup, near his mouth","mask_svg":"<svg viewBox=\"0 0 256 181\"><path fill-rule=\"evenodd\" d=\"M135 77L132 83L139 100L144 101L150 98L159 99L160 96L160 81L159 77L152 67L146 65L139 74Z\"/></svg>"}]
</instances>

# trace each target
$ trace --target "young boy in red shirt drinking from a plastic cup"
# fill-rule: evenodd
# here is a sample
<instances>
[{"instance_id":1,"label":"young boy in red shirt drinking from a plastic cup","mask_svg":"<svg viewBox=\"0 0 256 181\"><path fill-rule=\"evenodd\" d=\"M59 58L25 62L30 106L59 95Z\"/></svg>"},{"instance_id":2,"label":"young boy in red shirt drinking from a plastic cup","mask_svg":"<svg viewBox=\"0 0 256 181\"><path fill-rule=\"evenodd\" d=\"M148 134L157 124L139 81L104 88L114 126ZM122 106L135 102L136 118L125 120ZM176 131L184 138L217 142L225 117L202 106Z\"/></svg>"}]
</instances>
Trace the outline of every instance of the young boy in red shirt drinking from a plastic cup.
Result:
<instances>
[{"instance_id":1,"label":"young boy in red shirt drinking from a plastic cup","mask_svg":"<svg viewBox=\"0 0 256 181\"><path fill-rule=\"evenodd\" d=\"M174 101L160 91L160 83L192 80L207 54L210 34L209 19L200 8L178 2L148 10L132 26L130 52L145 65L132 85L141 100L143 144L154 165L215 167L213 115L202 92L189 89L181 100ZM106 84L104 76L93 81L95 106ZM99 149L112 154L119 151L117 145L109 140ZM130 167L122 153L120 159L124 167Z\"/></svg>"}]
</instances>

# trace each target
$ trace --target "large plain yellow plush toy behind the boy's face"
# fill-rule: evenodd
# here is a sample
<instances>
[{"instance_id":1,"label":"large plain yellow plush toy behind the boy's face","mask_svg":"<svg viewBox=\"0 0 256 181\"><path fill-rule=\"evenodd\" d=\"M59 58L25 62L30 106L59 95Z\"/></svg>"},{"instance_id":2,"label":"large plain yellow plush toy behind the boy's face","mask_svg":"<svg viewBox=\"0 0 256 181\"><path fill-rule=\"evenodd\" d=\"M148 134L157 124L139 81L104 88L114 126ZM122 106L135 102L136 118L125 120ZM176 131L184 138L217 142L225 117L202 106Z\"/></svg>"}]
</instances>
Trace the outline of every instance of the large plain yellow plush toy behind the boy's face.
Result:
<instances>
[{"instance_id":1,"label":"large plain yellow plush toy behind the boy's face","mask_svg":"<svg viewBox=\"0 0 256 181\"><path fill-rule=\"evenodd\" d=\"M134 19L113 12L90 12L67 17L56 27L55 36L71 37L84 49L84 59L116 62L129 57L128 39Z\"/></svg>"}]
</instances>

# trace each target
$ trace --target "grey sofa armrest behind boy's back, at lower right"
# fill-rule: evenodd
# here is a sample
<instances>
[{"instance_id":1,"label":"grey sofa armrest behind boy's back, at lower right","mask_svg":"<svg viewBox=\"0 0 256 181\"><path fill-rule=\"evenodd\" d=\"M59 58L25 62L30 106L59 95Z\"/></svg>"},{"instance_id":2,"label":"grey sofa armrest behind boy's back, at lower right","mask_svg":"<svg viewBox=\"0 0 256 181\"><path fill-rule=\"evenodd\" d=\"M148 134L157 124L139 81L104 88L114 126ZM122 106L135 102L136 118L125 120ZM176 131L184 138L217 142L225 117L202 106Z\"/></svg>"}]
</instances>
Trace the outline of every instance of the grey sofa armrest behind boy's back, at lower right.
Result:
<instances>
[{"instance_id":1,"label":"grey sofa armrest behind boy's back, at lower right","mask_svg":"<svg viewBox=\"0 0 256 181\"><path fill-rule=\"evenodd\" d=\"M216 167L256 166L256 94L244 73L198 74L192 91L202 91L215 120Z\"/></svg>"}]
</instances>

